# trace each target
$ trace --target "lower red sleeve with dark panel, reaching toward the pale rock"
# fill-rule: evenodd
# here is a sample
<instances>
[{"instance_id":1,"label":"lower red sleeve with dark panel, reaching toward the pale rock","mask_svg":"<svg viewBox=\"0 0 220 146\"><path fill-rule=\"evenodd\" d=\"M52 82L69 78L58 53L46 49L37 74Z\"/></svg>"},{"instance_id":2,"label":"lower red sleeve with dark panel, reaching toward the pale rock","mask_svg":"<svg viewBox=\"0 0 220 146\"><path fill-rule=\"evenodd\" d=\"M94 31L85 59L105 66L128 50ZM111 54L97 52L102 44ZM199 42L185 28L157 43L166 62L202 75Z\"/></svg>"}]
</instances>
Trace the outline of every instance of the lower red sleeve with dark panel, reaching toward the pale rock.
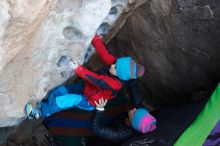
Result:
<instances>
[{"instance_id":1,"label":"lower red sleeve with dark panel, reaching toward the pale rock","mask_svg":"<svg viewBox=\"0 0 220 146\"><path fill-rule=\"evenodd\" d=\"M113 90L121 89L122 85L120 81L106 75L96 74L81 65L79 65L75 69L75 72L81 78L86 79L90 83L96 86L100 86L103 89L113 89Z\"/></svg>"}]
</instances>

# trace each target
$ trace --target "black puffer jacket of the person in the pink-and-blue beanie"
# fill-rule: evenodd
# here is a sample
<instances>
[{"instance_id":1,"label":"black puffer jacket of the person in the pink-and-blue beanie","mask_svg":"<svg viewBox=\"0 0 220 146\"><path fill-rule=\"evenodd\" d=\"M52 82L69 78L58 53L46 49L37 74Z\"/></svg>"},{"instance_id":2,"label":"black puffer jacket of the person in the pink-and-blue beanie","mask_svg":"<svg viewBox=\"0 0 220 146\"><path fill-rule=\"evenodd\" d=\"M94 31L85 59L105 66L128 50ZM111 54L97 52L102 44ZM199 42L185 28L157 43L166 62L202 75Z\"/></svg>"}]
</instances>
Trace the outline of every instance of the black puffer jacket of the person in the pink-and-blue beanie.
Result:
<instances>
[{"instance_id":1,"label":"black puffer jacket of the person in the pink-and-blue beanie","mask_svg":"<svg viewBox=\"0 0 220 146\"><path fill-rule=\"evenodd\" d=\"M130 80L126 82L126 87L130 91L130 97L133 102L133 105L136 108L143 107L142 98L140 96L139 87L136 80ZM114 126L110 124L103 124L104 116L102 111L95 110L92 121L91 121L91 130L98 137L109 141L122 142L131 137L135 130L131 127L124 125L125 118L122 119L123 122L117 122Z\"/></svg>"}]
</instances>

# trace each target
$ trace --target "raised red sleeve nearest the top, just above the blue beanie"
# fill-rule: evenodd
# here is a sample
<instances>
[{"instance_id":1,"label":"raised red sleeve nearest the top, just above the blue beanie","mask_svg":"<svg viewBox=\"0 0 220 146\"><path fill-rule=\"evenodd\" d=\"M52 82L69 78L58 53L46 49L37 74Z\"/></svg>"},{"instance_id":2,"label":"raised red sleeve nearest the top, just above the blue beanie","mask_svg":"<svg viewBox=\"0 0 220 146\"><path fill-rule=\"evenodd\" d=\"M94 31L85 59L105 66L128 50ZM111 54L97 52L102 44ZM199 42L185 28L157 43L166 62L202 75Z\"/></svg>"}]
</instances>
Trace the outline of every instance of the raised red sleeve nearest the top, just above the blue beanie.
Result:
<instances>
[{"instance_id":1,"label":"raised red sleeve nearest the top, just above the blue beanie","mask_svg":"<svg viewBox=\"0 0 220 146\"><path fill-rule=\"evenodd\" d=\"M109 54L105 45L103 44L102 39L97 34L92 39L92 45L107 65L115 63L116 58L112 54Z\"/></svg>"}]
</instances>

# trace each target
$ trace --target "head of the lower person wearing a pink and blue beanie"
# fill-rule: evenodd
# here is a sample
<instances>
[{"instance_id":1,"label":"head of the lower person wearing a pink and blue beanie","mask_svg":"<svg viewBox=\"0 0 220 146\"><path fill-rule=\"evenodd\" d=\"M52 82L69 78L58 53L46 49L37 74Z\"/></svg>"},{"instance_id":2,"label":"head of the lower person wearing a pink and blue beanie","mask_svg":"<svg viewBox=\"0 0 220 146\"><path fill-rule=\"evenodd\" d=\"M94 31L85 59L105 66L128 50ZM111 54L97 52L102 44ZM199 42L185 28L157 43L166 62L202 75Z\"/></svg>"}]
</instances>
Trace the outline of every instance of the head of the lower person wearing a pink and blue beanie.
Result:
<instances>
[{"instance_id":1,"label":"head of the lower person wearing a pink and blue beanie","mask_svg":"<svg viewBox=\"0 0 220 146\"><path fill-rule=\"evenodd\" d=\"M143 108L134 108L128 112L129 121L131 126L141 132L151 132L156 128L156 119Z\"/></svg>"}]
</instances>

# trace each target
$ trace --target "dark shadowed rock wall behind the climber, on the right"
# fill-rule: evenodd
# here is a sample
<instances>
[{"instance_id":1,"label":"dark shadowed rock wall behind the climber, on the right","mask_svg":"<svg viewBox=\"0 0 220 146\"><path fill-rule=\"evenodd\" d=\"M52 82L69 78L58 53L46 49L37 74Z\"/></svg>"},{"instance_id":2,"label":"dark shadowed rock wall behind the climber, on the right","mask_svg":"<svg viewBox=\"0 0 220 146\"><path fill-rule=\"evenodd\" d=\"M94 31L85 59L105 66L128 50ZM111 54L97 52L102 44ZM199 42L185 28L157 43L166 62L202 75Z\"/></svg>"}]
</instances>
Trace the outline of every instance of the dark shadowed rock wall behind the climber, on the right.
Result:
<instances>
[{"instance_id":1,"label":"dark shadowed rock wall behind the climber, on the right","mask_svg":"<svg viewBox=\"0 0 220 146\"><path fill-rule=\"evenodd\" d=\"M145 66L143 96L157 107L208 96L220 81L220 1L151 0L110 42Z\"/></svg>"}]
</instances>

